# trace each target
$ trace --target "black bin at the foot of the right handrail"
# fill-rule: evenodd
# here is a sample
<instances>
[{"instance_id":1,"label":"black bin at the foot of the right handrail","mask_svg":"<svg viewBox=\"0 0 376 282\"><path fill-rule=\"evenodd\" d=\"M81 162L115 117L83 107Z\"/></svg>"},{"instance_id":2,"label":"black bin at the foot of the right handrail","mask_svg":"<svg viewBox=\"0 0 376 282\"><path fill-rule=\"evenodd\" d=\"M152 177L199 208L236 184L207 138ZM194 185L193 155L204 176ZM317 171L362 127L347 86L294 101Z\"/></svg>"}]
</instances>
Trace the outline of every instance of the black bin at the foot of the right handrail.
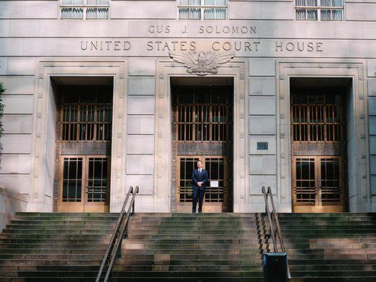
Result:
<instances>
[{"instance_id":1,"label":"black bin at the foot of the right handrail","mask_svg":"<svg viewBox=\"0 0 376 282\"><path fill-rule=\"evenodd\" d=\"M264 282L288 282L286 252L267 252L264 254Z\"/></svg>"}]
</instances>

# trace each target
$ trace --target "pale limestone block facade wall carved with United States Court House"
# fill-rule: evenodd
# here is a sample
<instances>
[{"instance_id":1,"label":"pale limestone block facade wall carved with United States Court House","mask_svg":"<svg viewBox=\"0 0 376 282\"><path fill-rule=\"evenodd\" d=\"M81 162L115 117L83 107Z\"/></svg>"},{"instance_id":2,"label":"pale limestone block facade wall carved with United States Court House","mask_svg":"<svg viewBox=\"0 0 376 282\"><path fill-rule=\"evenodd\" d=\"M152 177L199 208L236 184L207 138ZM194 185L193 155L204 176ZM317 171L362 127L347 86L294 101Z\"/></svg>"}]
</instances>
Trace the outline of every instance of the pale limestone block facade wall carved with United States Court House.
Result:
<instances>
[{"instance_id":1,"label":"pale limestone block facade wall carved with United States Court House","mask_svg":"<svg viewBox=\"0 0 376 282\"><path fill-rule=\"evenodd\" d=\"M295 20L294 1L230 0L228 11L229 20L176 20L176 1L112 0L109 20L60 20L59 1L0 1L0 81L7 89L0 186L16 195L31 193L32 180L37 177L45 178L46 185L51 186L53 168L45 171L44 176L32 168L32 142L37 134L33 126L38 113L47 112L51 106L36 107L40 95L36 85L49 84L48 80L38 82L40 61L116 59L126 63L126 90L122 93L126 99L122 121L126 130L120 136L114 135L125 139L119 157L125 167L114 174L124 182L123 187L116 189L142 185L137 199L140 209L168 211L161 207L162 200L155 197L158 136L154 132L160 118L155 116L155 106L160 94L165 94L156 89L157 60L169 58L169 51L230 51L236 54L235 60L248 62L245 136L249 154L245 159L249 171L244 177L248 183L249 210L263 209L262 185L270 185L276 194L281 189L277 184L281 173L277 166L277 62L286 58L304 62L309 58L317 63L346 60L363 66L364 80L360 83L364 83L368 95L360 94L365 96L368 110L359 112L358 105L353 105L354 116L365 116L364 124L359 123L353 136L357 140L364 135L366 149L357 156L364 154L367 166L363 172L350 171L349 176L355 173L353 187L367 181L368 196L363 200L372 203L369 209L376 211L376 2L346 1L343 22ZM85 68L80 71L100 75ZM68 68L62 69L61 74L64 72L78 73L77 69ZM48 127L52 130L51 124ZM48 137L51 135L45 140ZM268 149L258 150L257 142L267 142ZM45 152L51 159L53 148L48 147ZM115 154L118 153L113 157L118 158ZM363 165L359 159L351 161L349 167ZM49 202L43 209L51 207L50 192L51 189L38 196ZM358 203L355 201L354 210ZM118 207L119 204L113 209Z\"/></svg>"}]
</instances>

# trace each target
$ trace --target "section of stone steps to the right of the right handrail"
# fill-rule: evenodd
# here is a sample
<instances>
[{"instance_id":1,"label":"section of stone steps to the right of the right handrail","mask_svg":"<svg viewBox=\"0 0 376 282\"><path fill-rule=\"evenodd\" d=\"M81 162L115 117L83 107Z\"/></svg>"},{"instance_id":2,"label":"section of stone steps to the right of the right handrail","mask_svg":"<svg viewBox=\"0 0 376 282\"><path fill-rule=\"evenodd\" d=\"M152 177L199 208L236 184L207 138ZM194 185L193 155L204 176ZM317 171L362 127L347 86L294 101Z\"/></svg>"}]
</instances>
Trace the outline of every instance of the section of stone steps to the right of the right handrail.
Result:
<instances>
[{"instance_id":1,"label":"section of stone steps to the right of the right handrail","mask_svg":"<svg viewBox=\"0 0 376 282\"><path fill-rule=\"evenodd\" d=\"M279 214L293 282L376 281L376 214Z\"/></svg>"}]
</instances>

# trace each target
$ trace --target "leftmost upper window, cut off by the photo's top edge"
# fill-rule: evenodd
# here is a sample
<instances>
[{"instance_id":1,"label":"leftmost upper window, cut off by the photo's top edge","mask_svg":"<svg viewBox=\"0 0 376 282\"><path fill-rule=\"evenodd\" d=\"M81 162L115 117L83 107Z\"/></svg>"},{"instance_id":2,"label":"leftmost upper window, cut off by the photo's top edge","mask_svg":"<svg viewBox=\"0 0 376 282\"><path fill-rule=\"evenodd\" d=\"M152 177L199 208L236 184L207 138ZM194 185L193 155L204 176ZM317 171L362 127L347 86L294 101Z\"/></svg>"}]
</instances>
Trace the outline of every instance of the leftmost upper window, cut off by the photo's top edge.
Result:
<instances>
[{"instance_id":1,"label":"leftmost upper window, cut off by the photo's top edge","mask_svg":"<svg viewBox=\"0 0 376 282\"><path fill-rule=\"evenodd\" d=\"M60 0L60 18L109 18L109 0Z\"/></svg>"}]
</instances>

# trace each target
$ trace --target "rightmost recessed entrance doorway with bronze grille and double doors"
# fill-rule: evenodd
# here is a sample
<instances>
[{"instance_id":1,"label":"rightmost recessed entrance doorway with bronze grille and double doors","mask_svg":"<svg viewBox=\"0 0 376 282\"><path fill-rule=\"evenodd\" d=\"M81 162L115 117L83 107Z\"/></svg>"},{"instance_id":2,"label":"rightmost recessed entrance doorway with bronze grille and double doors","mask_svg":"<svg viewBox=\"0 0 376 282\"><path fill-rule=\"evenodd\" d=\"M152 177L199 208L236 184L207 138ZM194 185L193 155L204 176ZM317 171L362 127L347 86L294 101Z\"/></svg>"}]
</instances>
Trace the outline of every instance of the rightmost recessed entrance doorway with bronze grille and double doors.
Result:
<instances>
[{"instance_id":1,"label":"rightmost recessed entrance doorway with bronze grille and double doors","mask_svg":"<svg viewBox=\"0 0 376 282\"><path fill-rule=\"evenodd\" d=\"M293 212L346 209L345 99L346 87L291 87Z\"/></svg>"}]
</instances>

